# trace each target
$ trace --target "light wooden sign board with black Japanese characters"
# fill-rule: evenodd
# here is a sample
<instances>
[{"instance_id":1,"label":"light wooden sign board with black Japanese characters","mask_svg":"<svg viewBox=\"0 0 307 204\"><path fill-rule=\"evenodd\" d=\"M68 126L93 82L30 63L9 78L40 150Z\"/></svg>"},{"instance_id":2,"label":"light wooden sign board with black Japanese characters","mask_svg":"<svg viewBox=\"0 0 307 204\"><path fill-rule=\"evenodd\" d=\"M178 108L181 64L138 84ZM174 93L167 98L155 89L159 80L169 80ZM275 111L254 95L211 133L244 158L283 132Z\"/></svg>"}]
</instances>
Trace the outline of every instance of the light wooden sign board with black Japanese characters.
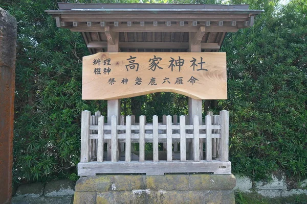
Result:
<instances>
[{"instance_id":1,"label":"light wooden sign board with black Japanese characters","mask_svg":"<svg viewBox=\"0 0 307 204\"><path fill-rule=\"evenodd\" d=\"M97 53L83 57L82 99L155 92L227 99L226 53Z\"/></svg>"}]
</instances>

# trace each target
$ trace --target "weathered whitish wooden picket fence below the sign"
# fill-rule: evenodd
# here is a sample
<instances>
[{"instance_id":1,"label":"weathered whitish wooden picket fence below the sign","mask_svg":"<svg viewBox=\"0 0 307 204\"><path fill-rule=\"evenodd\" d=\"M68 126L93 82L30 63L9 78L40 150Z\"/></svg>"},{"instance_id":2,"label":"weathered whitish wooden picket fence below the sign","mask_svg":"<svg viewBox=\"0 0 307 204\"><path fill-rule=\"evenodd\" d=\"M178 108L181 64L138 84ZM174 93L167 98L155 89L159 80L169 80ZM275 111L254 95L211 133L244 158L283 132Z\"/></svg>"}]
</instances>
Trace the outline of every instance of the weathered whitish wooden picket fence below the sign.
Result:
<instances>
[{"instance_id":1,"label":"weathered whitish wooden picket fence below the sign","mask_svg":"<svg viewBox=\"0 0 307 204\"><path fill-rule=\"evenodd\" d=\"M90 111L83 111L78 175L192 172L230 174L228 111L223 110L220 115L209 112L201 124L197 115L193 116L192 124L188 124L187 120L188 117L182 115L178 123L176 115L168 115L163 116L163 122L159 123L158 116L154 115L152 123L146 123L145 116L140 116L140 122L135 123L134 116L120 116L119 119L112 116L111 121L105 123L105 117L100 116L100 112L91 116ZM107 143L107 149L104 149L104 143ZM134 154L131 153L131 144L134 143L139 143L138 161L131 159ZM145 143L152 143L151 161L145 160ZM166 160L159 158L159 143L166 146ZM177 151L177 145L180 151ZM124 152L123 161L120 161L121 152ZM187 155L187 152L191 154ZM180 154L180 159L173 160L174 154Z\"/></svg>"}]
</instances>

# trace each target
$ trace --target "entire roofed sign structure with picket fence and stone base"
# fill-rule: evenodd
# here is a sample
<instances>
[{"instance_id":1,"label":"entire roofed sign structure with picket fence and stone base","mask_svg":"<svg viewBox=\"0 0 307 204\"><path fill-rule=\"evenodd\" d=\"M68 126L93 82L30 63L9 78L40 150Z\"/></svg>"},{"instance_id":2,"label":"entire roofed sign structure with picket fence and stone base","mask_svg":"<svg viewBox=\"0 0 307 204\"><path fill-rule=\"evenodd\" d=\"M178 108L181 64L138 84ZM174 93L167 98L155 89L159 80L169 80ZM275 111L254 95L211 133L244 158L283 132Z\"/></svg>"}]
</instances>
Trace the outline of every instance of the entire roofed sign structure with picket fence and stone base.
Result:
<instances>
[{"instance_id":1,"label":"entire roofed sign structure with picket fence and stone base","mask_svg":"<svg viewBox=\"0 0 307 204\"><path fill-rule=\"evenodd\" d=\"M57 27L81 32L92 54L83 57L82 99L107 100L106 116L82 112L74 203L234 203L228 111L203 118L202 100L227 99L226 53L218 50L227 32L251 27L262 11L248 5L58 6L47 11ZM186 95L188 115L120 115L121 98L161 91Z\"/></svg>"}]
</instances>

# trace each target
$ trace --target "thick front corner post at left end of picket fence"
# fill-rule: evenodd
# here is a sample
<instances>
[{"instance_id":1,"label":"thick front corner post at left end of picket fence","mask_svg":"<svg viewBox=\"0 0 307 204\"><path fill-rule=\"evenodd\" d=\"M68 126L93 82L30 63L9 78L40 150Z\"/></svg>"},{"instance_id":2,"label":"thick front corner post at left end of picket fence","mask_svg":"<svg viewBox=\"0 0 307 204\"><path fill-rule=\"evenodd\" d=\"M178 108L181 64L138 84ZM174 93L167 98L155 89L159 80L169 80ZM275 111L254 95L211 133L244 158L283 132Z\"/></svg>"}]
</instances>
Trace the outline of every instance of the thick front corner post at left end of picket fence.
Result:
<instances>
[{"instance_id":1,"label":"thick front corner post at left end of picket fence","mask_svg":"<svg viewBox=\"0 0 307 204\"><path fill-rule=\"evenodd\" d=\"M80 162L90 161L90 111L82 111L81 114L81 156Z\"/></svg>"}]
</instances>

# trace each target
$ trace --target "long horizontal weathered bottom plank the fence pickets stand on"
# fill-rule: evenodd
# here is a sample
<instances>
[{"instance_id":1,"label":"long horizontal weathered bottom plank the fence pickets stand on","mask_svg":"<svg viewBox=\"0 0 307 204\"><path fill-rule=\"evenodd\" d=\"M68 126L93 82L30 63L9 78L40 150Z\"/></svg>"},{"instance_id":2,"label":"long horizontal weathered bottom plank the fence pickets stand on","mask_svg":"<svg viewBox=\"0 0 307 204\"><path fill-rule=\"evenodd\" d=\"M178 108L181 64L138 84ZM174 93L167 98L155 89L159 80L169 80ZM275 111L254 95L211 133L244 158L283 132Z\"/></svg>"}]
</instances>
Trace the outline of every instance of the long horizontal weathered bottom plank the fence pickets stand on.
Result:
<instances>
[{"instance_id":1,"label":"long horizontal weathered bottom plank the fence pickets stand on","mask_svg":"<svg viewBox=\"0 0 307 204\"><path fill-rule=\"evenodd\" d=\"M79 163L78 175L89 176L96 175L98 173L105 174L117 174L117 173L146 173L147 175L164 175L164 173L209 173L214 172L218 174L231 174L231 162L221 162L213 160L212 162L206 162L204 160L200 162L181 162L181 161L118 161L109 162L104 161Z\"/></svg>"}]
</instances>

